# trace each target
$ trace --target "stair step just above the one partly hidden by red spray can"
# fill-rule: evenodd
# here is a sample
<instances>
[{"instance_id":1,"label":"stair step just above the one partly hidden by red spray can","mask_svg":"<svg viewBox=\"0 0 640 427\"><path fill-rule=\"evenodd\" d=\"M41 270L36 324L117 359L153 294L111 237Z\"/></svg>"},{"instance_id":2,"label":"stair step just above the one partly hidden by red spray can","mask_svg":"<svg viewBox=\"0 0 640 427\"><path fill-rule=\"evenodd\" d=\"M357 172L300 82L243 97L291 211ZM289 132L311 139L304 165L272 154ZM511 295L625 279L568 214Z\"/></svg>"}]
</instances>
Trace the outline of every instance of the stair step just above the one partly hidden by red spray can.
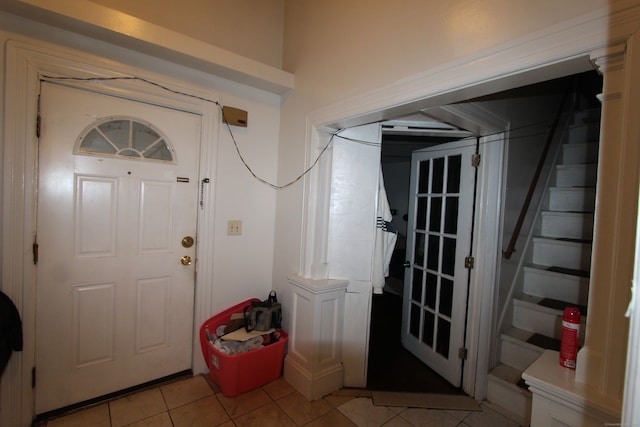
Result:
<instances>
[{"instance_id":1,"label":"stair step just above the one partly hidden by red spray can","mask_svg":"<svg viewBox=\"0 0 640 427\"><path fill-rule=\"evenodd\" d=\"M571 271L571 274L567 271ZM585 275L587 277L584 277ZM523 290L525 294L535 297L586 305L589 295L588 272L537 265L525 266Z\"/></svg>"}]
</instances>

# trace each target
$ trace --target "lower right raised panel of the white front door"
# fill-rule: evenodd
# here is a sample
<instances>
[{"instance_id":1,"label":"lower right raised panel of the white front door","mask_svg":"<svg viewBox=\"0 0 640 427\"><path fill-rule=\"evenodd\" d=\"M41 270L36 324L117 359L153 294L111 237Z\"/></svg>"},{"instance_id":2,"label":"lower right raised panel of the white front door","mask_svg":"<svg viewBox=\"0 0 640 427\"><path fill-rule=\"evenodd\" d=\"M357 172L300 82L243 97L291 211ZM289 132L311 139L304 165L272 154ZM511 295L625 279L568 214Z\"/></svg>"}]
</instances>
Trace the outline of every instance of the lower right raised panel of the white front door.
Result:
<instances>
[{"instance_id":1,"label":"lower right raised panel of the white front door","mask_svg":"<svg viewBox=\"0 0 640 427\"><path fill-rule=\"evenodd\" d=\"M166 347L169 342L170 277L138 280L136 292L136 353Z\"/></svg>"}]
</instances>

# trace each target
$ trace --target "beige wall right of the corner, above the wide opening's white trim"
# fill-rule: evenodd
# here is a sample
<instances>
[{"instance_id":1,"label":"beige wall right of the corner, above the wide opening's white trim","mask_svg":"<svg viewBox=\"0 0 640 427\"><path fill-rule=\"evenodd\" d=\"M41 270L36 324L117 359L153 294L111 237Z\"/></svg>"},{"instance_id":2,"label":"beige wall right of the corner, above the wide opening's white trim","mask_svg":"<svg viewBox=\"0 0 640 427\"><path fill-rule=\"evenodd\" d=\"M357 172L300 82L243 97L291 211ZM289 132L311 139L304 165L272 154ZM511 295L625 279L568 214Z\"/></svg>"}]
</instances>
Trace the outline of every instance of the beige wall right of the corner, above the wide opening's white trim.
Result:
<instances>
[{"instance_id":1,"label":"beige wall right of the corner, above the wide opening's white trim","mask_svg":"<svg viewBox=\"0 0 640 427\"><path fill-rule=\"evenodd\" d=\"M309 116L338 101L455 63L607 5L503 0L285 3L284 69L296 88L283 104L279 179L304 167ZM481 66L481 64L479 64ZM394 99L388 100L389 105ZM301 265L302 185L278 193L274 287Z\"/></svg>"}]
</instances>

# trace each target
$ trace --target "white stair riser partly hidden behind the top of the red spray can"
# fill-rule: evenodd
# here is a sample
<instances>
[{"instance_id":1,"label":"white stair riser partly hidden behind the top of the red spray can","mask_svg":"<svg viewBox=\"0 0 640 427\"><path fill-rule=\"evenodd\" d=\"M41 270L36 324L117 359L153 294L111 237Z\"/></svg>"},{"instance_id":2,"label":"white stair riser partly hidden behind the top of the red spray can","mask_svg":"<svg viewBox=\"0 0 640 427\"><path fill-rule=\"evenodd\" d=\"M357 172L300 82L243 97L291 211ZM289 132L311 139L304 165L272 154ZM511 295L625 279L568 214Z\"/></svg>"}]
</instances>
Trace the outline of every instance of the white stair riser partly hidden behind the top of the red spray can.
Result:
<instances>
[{"instance_id":1,"label":"white stair riser partly hidden behind the top of the red spray can","mask_svg":"<svg viewBox=\"0 0 640 427\"><path fill-rule=\"evenodd\" d=\"M513 326L525 331L535 332L544 336L562 339L562 312L549 310L514 301ZM580 344L584 342L584 321L580 325Z\"/></svg>"}]
</instances>

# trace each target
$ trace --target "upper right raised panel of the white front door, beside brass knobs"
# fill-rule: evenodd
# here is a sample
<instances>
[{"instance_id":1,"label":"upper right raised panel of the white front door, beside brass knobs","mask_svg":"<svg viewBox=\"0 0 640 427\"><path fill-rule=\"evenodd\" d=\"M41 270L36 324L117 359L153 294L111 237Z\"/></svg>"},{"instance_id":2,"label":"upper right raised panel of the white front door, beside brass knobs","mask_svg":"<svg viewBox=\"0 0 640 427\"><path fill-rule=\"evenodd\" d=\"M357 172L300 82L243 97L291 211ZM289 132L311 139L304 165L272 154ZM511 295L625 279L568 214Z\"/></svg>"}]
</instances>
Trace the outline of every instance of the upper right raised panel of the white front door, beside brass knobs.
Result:
<instances>
[{"instance_id":1,"label":"upper right raised panel of the white front door, beside brass knobs","mask_svg":"<svg viewBox=\"0 0 640 427\"><path fill-rule=\"evenodd\" d=\"M173 184L140 183L140 252L166 252L172 236Z\"/></svg>"}]
</instances>

